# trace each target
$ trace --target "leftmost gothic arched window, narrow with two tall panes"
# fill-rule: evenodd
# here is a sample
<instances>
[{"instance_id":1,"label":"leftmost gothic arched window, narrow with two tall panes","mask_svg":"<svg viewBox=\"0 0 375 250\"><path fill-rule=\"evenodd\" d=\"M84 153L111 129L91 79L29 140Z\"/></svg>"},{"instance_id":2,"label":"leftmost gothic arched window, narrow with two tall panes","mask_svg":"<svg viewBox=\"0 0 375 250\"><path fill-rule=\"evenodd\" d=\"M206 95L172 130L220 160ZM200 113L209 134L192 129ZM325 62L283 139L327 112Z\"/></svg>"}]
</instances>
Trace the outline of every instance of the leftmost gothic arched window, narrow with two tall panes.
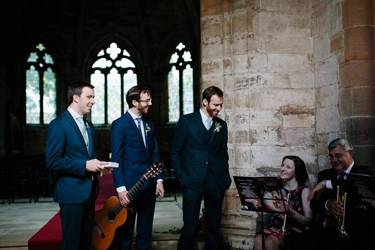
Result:
<instances>
[{"instance_id":1,"label":"leftmost gothic arched window, narrow with two tall panes","mask_svg":"<svg viewBox=\"0 0 375 250\"><path fill-rule=\"evenodd\" d=\"M47 52L39 43L27 59L27 124L49 124L56 118L56 74L53 59Z\"/></svg>"}]
</instances>

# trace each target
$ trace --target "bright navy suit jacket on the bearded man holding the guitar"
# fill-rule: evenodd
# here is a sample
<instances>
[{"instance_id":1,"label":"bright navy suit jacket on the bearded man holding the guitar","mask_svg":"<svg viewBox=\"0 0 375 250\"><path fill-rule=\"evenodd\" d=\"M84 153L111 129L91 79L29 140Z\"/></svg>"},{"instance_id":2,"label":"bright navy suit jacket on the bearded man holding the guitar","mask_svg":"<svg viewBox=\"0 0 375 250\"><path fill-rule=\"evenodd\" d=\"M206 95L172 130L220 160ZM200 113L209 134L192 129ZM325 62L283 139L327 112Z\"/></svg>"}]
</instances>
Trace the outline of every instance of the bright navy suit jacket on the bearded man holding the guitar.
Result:
<instances>
[{"instance_id":1,"label":"bright navy suit jacket on the bearded man holding the guitar","mask_svg":"<svg viewBox=\"0 0 375 250\"><path fill-rule=\"evenodd\" d=\"M145 136L146 145L128 111L112 122L111 160L118 163L118 168L112 171L115 189L125 186L126 190L130 190L146 173L148 167L159 160L154 124L151 118L144 115L142 115L142 122L145 133L146 124L150 128L150 132ZM153 178L155 186L158 179L162 179L160 172ZM147 183L148 180L139 190L145 189Z\"/></svg>"}]
</instances>

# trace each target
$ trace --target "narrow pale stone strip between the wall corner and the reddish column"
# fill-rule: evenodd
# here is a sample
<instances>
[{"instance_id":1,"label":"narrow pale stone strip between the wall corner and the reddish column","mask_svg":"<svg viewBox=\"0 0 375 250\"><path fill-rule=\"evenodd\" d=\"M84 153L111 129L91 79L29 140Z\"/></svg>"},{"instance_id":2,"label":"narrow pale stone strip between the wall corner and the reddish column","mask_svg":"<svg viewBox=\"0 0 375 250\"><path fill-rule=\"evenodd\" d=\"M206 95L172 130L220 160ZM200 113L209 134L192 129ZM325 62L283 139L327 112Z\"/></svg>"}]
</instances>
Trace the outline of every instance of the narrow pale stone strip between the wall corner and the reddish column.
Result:
<instances>
[{"instance_id":1,"label":"narrow pale stone strip between the wall corner and the reddish column","mask_svg":"<svg viewBox=\"0 0 375 250\"><path fill-rule=\"evenodd\" d=\"M339 64L344 62L341 1L314 1L314 65L318 170L330 167L327 144L338 138ZM345 137L345 136L344 136Z\"/></svg>"}]
</instances>

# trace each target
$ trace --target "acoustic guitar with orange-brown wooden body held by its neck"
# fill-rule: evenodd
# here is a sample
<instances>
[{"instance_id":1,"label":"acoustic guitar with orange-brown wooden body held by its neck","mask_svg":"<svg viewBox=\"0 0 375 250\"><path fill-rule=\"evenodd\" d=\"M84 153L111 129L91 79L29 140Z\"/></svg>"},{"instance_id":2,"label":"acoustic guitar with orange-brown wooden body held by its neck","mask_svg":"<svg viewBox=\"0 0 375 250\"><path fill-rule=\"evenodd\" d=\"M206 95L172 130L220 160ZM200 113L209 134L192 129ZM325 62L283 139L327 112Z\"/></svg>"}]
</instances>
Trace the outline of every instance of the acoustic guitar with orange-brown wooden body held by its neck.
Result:
<instances>
[{"instance_id":1,"label":"acoustic guitar with orange-brown wooden body held by its neck","mask_svg":"<svg viewBox=\"0 0 375 250\"><path fill-rule=\"evenodd\" d=\"M139 181L129 190L126 197L131 200L139 188L151 177L154 177L162 168L162 161L154 163ZM101 210L95 211L95 221L91 244L98 250L113 249L126 229L126 224L133 220L133 210L130 205L123 207L118 197L110 197Z\"/></svg>"}]
</instances>

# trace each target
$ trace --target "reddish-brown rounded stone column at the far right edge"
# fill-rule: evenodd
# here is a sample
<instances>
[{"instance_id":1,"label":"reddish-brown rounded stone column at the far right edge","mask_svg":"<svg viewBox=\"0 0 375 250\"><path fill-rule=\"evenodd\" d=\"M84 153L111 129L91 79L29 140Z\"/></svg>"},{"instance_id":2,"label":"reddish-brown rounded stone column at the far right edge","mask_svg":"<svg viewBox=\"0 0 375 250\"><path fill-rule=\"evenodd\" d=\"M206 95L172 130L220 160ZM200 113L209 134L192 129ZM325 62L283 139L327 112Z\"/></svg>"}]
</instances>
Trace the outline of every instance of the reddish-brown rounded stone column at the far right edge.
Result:
<instances>
[{"instance_id":1,"label":"reddish-brown rounded stone column at the far right edge","mask_svg":"<svg viewBox=\"0 0 375 250\"><path fill-rule=\"evenodd\" d=\"M375 165L374 0L342 3L344 63L339 65L340 134L359 165Z\"/></svg>"}]
</instances>

